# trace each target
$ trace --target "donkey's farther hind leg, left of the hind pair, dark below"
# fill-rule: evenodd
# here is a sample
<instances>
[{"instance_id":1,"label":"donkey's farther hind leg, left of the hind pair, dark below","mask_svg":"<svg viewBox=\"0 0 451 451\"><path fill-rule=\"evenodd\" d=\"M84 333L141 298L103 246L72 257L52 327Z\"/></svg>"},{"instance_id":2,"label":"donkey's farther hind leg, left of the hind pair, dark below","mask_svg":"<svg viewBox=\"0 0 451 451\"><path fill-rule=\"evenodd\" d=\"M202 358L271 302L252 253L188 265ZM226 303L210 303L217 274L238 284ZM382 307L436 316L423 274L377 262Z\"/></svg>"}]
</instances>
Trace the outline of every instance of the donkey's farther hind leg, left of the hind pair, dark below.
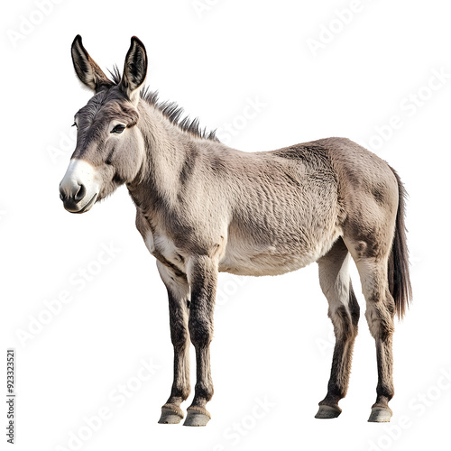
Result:
<instances>
[{"instance_id":1,"label":"donkey's farther hind leg, left of the hind pair, dark below","mask_svg":"<svg viewBox=\"0 0 451 451\"><path fill-rule=\"evenodd\" d=\"M336 345L327 395L319 402L315 418L335 419L341 409L338 401L345 397L360 308L354 296L348 272L350 255L341 238L318 260L319 283L329 303L328 316L334 325Z\"/></svg>"}]
</instances>

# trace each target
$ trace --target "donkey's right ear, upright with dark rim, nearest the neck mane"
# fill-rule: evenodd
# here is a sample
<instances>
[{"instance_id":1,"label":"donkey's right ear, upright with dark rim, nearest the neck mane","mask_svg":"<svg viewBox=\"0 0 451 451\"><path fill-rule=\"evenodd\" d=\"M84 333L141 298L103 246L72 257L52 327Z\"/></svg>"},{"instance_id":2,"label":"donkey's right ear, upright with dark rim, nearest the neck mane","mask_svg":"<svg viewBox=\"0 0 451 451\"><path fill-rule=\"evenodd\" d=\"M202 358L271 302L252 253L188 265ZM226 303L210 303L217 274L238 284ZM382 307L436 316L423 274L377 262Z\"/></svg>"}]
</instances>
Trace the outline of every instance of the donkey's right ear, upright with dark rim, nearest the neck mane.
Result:
<instances>
[{"instance_id":1,"label":"donkey's right ear, upright with dark rim, nearest the neck mane","mask_svg":"<svg viewBox=\"0 0 451 451\"><path fill-rule=\"evenodd\" d=\"M134 104L138 103L140 87L143 86L146 74L147 53L144 44L133 36L125 57L124 73L119 86Z\"/></svg>"}]
</instances>

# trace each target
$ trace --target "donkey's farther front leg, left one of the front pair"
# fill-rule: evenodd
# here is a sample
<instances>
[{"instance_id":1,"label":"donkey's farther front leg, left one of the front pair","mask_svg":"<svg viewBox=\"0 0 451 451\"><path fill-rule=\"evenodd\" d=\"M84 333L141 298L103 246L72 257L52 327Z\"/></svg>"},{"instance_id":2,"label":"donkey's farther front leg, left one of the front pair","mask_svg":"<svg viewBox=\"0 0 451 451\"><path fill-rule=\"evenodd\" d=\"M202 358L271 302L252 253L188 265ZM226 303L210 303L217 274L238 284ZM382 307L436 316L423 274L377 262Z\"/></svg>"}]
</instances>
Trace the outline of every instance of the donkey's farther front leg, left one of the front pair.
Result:
<instances>
[{"instance_id":1,"label":"donkey's farther front leg, left one of the front pair","mask_svg":"<svg viewBox=\"0 0 451 451\"><path fill-rule=\"evenodd\" d=\"M177 424L183 418L180 404L189 396L189 284L185 276L175 274L157 262L161 279L168 290L170 339L174 346L174 382L170 398L161 408L159 423Z\"/></svg>"}]
</instances>

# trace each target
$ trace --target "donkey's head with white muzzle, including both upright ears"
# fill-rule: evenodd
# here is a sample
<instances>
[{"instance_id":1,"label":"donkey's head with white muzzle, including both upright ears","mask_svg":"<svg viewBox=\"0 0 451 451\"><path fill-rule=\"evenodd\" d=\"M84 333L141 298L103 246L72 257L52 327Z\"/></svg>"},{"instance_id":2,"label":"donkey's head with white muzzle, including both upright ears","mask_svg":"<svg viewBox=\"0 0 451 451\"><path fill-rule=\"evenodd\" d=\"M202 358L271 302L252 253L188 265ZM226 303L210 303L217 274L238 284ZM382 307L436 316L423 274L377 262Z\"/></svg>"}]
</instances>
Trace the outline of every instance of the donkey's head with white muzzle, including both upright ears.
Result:
<instances>
[{"instance_id":1,"label":"donkey's head with white muzzle, including both upright ears","mask_svg":"<svg viewBox=\"0 0 451 451\"><path fill-rule=\"evenodd\" d=\"M135 125L147 55L133 36L118 84L92 60L79 35L72 43L72 60L78 78L94 96L75 115L77 146L60 183L60 198L71 213L84 213L118 186L132 182L143 164L143 135Z\"/></svg>"}]
</instances>

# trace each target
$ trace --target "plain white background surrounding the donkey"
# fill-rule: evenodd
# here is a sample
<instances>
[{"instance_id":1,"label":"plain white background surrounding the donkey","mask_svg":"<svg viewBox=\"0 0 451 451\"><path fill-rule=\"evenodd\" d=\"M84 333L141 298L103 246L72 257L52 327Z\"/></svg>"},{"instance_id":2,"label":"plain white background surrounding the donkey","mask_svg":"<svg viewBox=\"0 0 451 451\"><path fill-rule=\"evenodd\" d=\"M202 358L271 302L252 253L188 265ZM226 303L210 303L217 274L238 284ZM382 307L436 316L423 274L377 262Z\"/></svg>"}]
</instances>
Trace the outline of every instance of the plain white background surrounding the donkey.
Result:
<instances>
[{"instance_id":1,"label":"plain white background surrounding the donkey","mask_svg":"<svg viewBox=\"0 0 451 451\"><path fill-rule=\"evenodd\" d=\"M63 0L47 4L41 15L37 3L7 2L1 17L2 353L16 349L15 449L75 449L69 437L79 434L79 449L446 446L447 2L201 0L195 7L191 0ZM134 228L132 201L122 188L76 216L59 198L74 149L73 115L90 97L70 59L78 33L105 70L115 63L122 69L130 37L137 35L151 61L147 83L208 129L235 121L241 129L229 138L238 149L345 136L399 171L410 193L414 302L395 333L391 426L366 422L377 379L363 315L343 413L314 419L327 391L333 345L316 264L275 278L221 274L211 345L212 420L207 428L157 424L172 381L168 307L155 261ZM312 40L320 43L317 51ZM441 83L434 76L440 71L447 74ZM249 99L264 107L243 125L237 117ZM397 129L390 131L393 115ZM99 267L102 245L118 252ZM83 268L98 273L82 286ZM354 287L364 312L355 277ZM61 291L72 300L49 319L45 302ZM20 339L25 332L30 336ZM158 366L144 382L137 379L144 374L142 359ZM5 356L1 361L4 384ZM121 406L114 396L127 383L133 391ZM266 400L267 411L255 410L257 399ZM108 410L109 418L88 429L84 418L99 410ZM4 433L0 440L3 448Z\"/></svg>"}]
</instances>

